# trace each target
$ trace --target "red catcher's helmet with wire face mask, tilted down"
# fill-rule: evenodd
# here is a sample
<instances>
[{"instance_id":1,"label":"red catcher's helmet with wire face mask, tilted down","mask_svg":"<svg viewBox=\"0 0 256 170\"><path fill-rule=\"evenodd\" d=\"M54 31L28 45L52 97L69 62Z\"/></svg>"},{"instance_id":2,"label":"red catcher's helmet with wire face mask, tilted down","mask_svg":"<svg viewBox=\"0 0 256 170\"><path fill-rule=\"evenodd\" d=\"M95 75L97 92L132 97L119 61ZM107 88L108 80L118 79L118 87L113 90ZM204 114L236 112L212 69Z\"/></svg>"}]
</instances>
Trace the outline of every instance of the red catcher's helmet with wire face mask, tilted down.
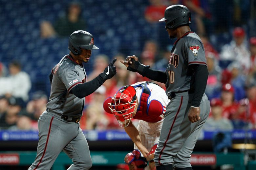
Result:
<instances>
[{"instance_id":1,"label":"red catcher's helmet with wire face mask, tilted down","mask_svg":"<svg viewBox=\"0 0 256 170\"><path fill-rule=\"evenodd\" d=\"M107 98L103 108L113 113L121 127L127 127L137 106L136 90L133 86L124 86L113 97Z\"/></svg>"}]
</instances>

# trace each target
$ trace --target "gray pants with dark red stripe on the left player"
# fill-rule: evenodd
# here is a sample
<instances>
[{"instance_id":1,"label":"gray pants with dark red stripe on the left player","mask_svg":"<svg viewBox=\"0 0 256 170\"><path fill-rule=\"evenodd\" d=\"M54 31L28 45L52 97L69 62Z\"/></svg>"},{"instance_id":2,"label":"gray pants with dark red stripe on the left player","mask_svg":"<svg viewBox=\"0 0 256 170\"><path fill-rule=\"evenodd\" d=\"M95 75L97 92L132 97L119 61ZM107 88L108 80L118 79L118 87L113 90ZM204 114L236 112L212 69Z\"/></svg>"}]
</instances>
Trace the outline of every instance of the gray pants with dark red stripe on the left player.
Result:
<instances>
[{"instance_id":1,"label":"gray pants with dark red stripe on the left player","mask_svg":"<svg viewBox=\"0 0 256 170\"><path fill-rule=\"evenodd\" d=\"M89 146L79 123L67 122L45 111L38 120L38 130L36 158L28 170L50 170L62 150L73 161L68 170L91 168Z\"/></svg>"}]
</instances>

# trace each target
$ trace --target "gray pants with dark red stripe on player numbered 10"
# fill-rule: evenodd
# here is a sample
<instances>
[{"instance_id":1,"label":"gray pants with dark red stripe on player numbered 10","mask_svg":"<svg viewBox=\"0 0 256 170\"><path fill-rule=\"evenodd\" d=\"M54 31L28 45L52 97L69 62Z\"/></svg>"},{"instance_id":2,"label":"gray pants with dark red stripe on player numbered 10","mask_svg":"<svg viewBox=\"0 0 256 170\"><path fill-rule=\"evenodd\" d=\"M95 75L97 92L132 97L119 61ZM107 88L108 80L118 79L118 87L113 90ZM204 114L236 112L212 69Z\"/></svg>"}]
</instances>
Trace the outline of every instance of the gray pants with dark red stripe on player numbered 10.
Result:
<instances>
[{"instance_id":1,"label":"gray pants with dark red stripe on player numbered 10","mask_svg":"<svg viewBox=\"0 0 256 170\"><path fill-rule=\"evenodd\" d=\"M173 168L190 167L192 153L202 126L210 112L210 102L203 94L200 103L201 119L195 123L188 120L193 94L176 93L164 114L159 143L155 152L155 165L173 164Z\"/></svg>"}]
</instances>

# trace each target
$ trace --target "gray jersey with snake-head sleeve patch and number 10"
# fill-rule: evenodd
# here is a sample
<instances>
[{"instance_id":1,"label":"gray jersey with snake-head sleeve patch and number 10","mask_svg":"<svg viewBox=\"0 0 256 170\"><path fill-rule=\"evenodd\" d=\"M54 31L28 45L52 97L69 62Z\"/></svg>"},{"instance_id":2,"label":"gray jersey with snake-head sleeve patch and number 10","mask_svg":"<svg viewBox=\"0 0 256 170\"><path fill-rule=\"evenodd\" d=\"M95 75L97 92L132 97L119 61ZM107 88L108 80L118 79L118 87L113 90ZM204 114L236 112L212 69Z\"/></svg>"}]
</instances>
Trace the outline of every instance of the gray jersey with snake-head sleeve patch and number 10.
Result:
<instances>
[{"instance_id":1,"label":"gray jersey with snake-head sleeve patch and number 10","mask_svg":"<svg viewBox=\"0 0 256 170\"><path fill-rule=\"evenodd\" d=\"M190 64L206 65L204 47L194 32L187 32L174 43L172 54L166 69L166 93L190 90L193 75L188 70ZM192 80L192 81L191 81Z\"/></svg>"}]
</instances>

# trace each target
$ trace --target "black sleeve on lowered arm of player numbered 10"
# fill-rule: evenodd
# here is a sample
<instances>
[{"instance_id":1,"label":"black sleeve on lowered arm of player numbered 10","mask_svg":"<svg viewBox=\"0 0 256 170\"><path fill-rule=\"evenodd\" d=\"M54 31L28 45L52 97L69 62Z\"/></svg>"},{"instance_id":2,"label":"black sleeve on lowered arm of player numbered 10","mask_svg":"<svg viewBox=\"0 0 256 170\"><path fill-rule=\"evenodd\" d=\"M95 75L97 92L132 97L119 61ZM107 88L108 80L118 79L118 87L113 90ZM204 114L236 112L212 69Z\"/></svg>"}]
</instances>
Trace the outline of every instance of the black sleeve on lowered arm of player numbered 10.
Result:
<instances>
[{"instance_id":1,"label":"black sleeve on lowered arm of player numbered 10","mask_svg":"<svg viewBox=\"0 0 256 170\"><path fill-rule=\"evenodd\" d=\"M195 92L191 106L199 107L206 88L209 73L206 65L192 64L189 67L195 72Z\"/></svg>"}]
</instances>

